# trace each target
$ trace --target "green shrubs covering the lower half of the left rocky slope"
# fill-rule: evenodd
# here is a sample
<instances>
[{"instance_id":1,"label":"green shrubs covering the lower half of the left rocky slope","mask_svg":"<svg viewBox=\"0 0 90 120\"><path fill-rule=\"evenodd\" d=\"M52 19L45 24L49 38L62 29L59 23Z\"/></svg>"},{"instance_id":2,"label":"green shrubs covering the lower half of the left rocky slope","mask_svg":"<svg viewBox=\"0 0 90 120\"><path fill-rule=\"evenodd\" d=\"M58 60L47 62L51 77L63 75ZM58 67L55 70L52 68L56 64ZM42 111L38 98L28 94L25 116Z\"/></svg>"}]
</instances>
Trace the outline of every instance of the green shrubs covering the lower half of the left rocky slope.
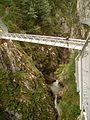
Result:
<instances>
[{"instance_id":1,"label":"green shrubs covering the lower half of the left rocky slope","mask_svg":"<svg viewBox=\"0 0 90 120\"><path fill-rule=\"evenodd\" d=\"M37 79L38 81L28 80L24 71L0 71L0 120L6 120L6 108L13 111L14 115L16 112L22 115L22 120L52 120L54 113L49 113L50 109L54 110L51 98L43 85L43 78L38 75ZM24 85L25 81L30 85L29 90ZM38 82L39 86L34 82Z\"/></svg>"}]
</instances>

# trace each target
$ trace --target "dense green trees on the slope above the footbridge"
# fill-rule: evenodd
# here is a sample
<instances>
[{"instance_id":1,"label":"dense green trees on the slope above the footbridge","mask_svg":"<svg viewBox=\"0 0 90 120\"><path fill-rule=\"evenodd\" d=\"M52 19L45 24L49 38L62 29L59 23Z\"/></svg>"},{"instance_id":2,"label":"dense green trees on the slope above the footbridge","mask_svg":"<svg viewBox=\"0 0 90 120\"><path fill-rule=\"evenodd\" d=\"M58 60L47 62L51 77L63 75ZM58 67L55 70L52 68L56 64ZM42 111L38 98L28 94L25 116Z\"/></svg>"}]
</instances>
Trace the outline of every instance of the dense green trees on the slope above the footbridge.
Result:
<instances>
[{"instance_id":1,"label":"dense green trees on the slope above the footbridge","mask_svg":"<svg viewBox=\"0 0 90 120\"><path fill-rule=\"evenodd\" d=\"M63 22L71 28L78 21L76 0L5 0L0 2L5 13L6 4L3 20L11 32L66 36L70 33L64 33Z\"/></svg>"}]
</instances>

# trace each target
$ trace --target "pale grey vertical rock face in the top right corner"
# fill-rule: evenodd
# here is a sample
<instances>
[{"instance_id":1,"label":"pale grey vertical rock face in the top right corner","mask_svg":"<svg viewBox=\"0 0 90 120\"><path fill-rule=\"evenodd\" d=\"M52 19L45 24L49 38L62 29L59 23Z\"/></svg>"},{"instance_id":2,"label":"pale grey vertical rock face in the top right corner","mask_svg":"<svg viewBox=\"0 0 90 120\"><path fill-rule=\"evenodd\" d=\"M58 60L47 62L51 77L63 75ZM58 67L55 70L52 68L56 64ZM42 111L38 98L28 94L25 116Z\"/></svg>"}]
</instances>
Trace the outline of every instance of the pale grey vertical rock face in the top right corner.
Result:
<instances>
[{"instance_id":1,"label":"pale grey vertical rock face in the top right corner","mask_svg":"<svg viewBox=\"0 0 90 120\"><path fill-rule=\"evenodd\" d=\"M90 0L77 0L77 10L81 22L90 19Z\"/></svg>"}]
</instances>

